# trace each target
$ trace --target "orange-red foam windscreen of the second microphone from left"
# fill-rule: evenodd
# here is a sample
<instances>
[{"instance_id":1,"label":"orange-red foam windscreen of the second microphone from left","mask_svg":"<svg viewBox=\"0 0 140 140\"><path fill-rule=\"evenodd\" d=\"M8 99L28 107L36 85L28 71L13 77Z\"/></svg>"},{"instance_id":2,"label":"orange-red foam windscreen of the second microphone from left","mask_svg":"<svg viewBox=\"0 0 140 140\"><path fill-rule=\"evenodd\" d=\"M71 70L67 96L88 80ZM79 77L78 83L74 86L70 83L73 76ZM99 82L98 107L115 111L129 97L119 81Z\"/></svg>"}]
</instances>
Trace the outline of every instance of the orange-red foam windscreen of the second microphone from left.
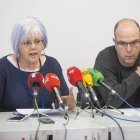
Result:
<instances>
[{"instance_id":1,"label":"orange-red foam windscreen of the second microphone from left","mask_svg":"<svg viewBox=\"0 0 140 140\"><path fill-rule=\"evenodd\" d=\"M53 87L57 87L58 89L60 88L60 80L54 73L46 74L44 78L44 84L45 87L51 92L53 91Z\"/></svg>"}]
</instances>

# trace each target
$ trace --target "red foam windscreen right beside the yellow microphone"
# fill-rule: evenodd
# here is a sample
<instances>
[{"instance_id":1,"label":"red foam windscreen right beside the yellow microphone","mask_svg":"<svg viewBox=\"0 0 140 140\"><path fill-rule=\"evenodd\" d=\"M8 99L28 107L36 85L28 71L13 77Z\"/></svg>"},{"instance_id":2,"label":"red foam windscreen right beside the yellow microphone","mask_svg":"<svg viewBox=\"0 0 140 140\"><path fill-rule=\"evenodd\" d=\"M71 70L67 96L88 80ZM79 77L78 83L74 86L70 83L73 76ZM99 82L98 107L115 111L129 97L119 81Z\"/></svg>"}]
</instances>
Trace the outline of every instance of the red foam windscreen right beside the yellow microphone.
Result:
<instances>
[{"instance_id":1,"label":"red foam windscreen right beside the yellow microphone","mask_svg":"<svg viewBox=\"0 0 140 140\"><path fill-rule=\"evenodd\" d=\"M67 69L67 77L73 86L76 86L77 82L83 81L81 71L75 66Z\"/></svg>"}]
</instances>

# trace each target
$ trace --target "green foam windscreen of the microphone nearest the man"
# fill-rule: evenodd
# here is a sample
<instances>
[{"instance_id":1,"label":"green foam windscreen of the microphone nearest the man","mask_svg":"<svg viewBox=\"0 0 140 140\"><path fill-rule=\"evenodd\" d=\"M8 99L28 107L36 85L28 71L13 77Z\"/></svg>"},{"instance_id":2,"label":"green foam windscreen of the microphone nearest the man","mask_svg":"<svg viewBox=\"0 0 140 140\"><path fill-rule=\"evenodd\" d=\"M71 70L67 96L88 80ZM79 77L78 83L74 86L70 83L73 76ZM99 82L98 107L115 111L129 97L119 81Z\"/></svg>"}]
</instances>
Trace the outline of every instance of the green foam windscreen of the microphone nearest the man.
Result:
<instances>
[{"instance_id":1,"label":"green foam windscreen of the microphone nearest the man","mask_svg":"<svg viewBox=\"0 0 140 140\"><path fill-rule=\"evenodd\" d=\"M90 72L90 74L92 76L94 85L98 86L99 82L104 79L103 74L101 72L99 72L98 70L93 69L93 68L88 68L87 70Z\"/></svg>"}]
</instances>

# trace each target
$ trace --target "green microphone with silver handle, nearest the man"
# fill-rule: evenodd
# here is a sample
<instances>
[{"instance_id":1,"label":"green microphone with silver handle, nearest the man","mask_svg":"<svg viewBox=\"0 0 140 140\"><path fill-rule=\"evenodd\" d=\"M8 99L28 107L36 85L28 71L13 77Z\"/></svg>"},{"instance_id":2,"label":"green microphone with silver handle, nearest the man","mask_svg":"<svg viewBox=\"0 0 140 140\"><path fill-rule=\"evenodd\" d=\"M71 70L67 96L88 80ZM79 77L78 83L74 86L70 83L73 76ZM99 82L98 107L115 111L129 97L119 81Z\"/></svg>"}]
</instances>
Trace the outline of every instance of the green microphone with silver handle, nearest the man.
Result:
<instances>
[{"instance_id":1,"label":"green microphone with silver handle, nearest the man","mask_svg":"<svg viewBox=\"0 0 140 140\"><path fill-rule=\"evenodd\" d=\"M87 70L90 72L95 86L101 85L109 90L113 95L119 96L119 94L112 87L103 82L104 76L101 72L93 68L88 68Z\"/></svg>"}]
</instances>

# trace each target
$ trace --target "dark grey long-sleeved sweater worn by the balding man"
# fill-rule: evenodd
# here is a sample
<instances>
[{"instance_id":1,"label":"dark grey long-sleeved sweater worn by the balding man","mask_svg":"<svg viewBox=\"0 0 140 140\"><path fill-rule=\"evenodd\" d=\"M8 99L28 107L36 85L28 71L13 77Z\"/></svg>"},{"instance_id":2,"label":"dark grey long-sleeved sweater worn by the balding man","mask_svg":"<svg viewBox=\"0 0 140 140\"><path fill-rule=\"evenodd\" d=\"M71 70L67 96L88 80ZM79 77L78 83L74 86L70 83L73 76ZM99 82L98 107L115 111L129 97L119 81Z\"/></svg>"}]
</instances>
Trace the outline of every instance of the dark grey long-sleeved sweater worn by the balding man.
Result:
<instances>
[{"instance_id":1,"label":"dark grey long-sleeved sweater worn by the balding man","mask_svg":"<svg viewBox=\"0 0 140 140\"><path fill-rule=\"evenodd\" d=\"M140 55L132 67L124 67L118 60L115 46L111 46L99 52L94 68L104 75L104 82L111 86L130 105L140 107L140 77L135 72L137 66L140 66ZM105 102L107 102L108 91L101 86L98 89ZM128 107L116 95L111 95L110 104L119 108Z\"/></svg>"}]
</instances>

